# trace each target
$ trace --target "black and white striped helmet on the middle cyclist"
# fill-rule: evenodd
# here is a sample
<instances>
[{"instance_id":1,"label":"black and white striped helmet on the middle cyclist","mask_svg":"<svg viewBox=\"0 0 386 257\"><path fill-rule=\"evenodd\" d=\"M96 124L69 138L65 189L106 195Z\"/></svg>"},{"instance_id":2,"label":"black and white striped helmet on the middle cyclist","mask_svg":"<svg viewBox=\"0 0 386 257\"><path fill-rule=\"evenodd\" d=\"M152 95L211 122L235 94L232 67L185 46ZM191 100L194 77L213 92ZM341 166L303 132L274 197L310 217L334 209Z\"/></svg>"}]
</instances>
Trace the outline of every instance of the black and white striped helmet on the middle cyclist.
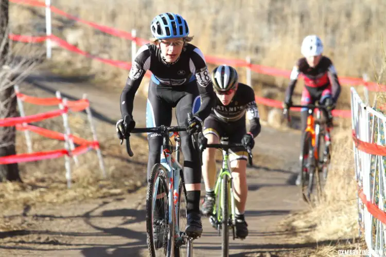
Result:
<instances>
[{"instance_id":1,"label":"black and white striped helmet on the middle cyclist","mask_svg":"<svg viewBox=\"0 0 386 257\"><path fill-rule=\"evenodd\" d=\"M226 92L236 87L238 75L235 68L220 65L212 72L213 87L218 92Z\"/></svg>"}]
</instances>

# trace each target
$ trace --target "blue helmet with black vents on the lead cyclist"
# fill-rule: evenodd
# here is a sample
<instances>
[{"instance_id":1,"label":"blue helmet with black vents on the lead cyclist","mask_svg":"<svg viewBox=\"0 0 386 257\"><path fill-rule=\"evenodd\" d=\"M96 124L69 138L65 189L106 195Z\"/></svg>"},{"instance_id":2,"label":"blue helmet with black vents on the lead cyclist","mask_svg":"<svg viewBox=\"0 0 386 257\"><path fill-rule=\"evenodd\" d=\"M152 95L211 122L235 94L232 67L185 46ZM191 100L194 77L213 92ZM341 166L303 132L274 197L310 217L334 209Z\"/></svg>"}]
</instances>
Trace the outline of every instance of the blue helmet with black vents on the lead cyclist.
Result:
<instances>
[{"instance_id":1,"label":"blue helmet with black vents on the lead cyclist","mask_svg":"<svg viewBox=\"0 0 386 257\"><path fill-rule=\"evenodd\" d=\"M189 34L189 27L184 18L171 12L155 16L150 29L156 39L185 38Z\"/></svg>"}]
</instances>

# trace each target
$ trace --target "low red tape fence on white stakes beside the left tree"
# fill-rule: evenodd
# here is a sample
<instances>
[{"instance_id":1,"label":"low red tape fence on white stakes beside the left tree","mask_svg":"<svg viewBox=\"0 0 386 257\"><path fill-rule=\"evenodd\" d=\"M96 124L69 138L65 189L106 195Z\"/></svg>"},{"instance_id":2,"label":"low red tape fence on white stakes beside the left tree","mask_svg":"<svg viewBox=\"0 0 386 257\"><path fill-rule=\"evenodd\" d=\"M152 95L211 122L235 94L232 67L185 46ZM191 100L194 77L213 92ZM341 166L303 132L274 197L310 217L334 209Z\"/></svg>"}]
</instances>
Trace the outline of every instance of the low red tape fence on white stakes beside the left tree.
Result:
<instances>
[{"instance_id":1,"label":"low red tape fence on white stakes beside the left tree","mask_svg":"<svg viewBox=\"0 0 386 257\"><path fill-rule=\"evenodd\" d=\"M15 126L16 130L24 131L24 133L34 132L46 138L65 141L66 147L65 149L39 151L39 152L31 153L32 151L30 148L31 142L30 142L29 136L27 136L26 134L27 145L29 146L29 149L28 149L29 153L2 156L0 157L0 164L39 161L39 160L45 160L45 159L55 159L55 158L60 158L64 156L66 159L65 168L66 168L67 187L71 187L71 167L69 163L69 157L73 157L75 162L77 163L76 156L89 152L90 150L96 150L98 159L99 159L99 167L102 170L102 175L106 177L104 164L102 161L102 155L99 149L99 142L96 138L95 130L92 124L89 100L81 99L77 101L67 101L66 99L62 100L61 98L32 97L25 94L21 94L19 92L19 87L17 86L15 86L15 92L16 92L17 101L19 104L21 104L19 105L19 107L21 108L23 108L23 104L20 102L27 102L30 104L41 105L41 106L59 105L61 108L55 111L49 111L49 112L25 116L25 117L12 117L12 118L0 119L0 126ZM39 122L45 119L66 115L69 111L81 112L84 110L86 111L87 117L89 118L89 121L90 121L90 126L93 132L93 138L94 138L93 141L89 141L89 140L77 137L75 135L69 134L69 126L67 122L64 123L67 134L47 130L46 128L43 128L43 127L28 124L30 122ZM63 119L64 119L64 116L63 116ZM67 119L64 119L64 120L67 120ZM75 147L74 144L77 144L78 146Z\"/></svg>"}]
</instances>

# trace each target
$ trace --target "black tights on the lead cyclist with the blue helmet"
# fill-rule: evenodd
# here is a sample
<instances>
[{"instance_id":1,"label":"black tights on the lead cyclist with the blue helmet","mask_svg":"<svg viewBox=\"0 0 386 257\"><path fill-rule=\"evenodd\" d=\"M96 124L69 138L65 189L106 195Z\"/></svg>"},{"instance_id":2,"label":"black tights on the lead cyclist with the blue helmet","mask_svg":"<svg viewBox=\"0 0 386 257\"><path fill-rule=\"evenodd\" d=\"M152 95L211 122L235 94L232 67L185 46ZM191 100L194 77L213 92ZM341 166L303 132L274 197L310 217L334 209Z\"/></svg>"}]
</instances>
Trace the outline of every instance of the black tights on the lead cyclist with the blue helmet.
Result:
<instances>
[{"instance_id":1,"label":"black tights on the lead cyclist with the blue helmet","mask_svg":"<svg viewBox=\"0 0 386 257\"><path fill-rule=\"evenodd\" d=\"M177 123L185 125L188 113L195 114L201 105L197 82L192 81L175 87L162 86L150 81L146 108L146 126L170 126L172 109L176 108ZM201 163L199 153L195 150L191 137L187 132L180 132L181 150L184 154L184 178L186 184L201 183ZM148 133L149 159L148 178L151 168L161 160L161 134Z\"/></svg>"}]
</instances>

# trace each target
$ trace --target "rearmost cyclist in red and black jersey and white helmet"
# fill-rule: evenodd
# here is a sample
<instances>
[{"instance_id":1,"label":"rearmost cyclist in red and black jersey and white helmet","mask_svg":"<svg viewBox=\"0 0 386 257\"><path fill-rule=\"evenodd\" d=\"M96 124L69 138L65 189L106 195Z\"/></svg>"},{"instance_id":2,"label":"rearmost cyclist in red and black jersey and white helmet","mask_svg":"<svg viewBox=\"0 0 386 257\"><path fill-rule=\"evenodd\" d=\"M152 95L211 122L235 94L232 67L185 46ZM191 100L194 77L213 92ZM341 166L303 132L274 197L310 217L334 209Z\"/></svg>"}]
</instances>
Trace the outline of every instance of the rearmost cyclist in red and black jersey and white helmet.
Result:
<instances>
[{"instance_id":1,"label":"rearmost cyclist in red and black jersey and white helmet","mask_svg":"<svg viewBox=\"0 0 386 257\"><path fill-rule=\"evenodd\" d=\"M337 71L331 60L322 55L323 43L317 35L308 35L304 38L301 52L303 58L297 60L294 65L288 88L286 90L283 108L285 112L292 105L292 94L295 89L297 78L303 75L305 87L302 92L301 105L314 104L319 101L328 106L329 113L335 108L339 98L341 86L339 84ZM302 142L307 126L307 108L301 109ZM328 130L332 128L332 116L328 117ZM300 161L303 158L303 145L301 146ZM296 185L300 185L301 173L299 172Z\"/></svg>"}]
</instances>

